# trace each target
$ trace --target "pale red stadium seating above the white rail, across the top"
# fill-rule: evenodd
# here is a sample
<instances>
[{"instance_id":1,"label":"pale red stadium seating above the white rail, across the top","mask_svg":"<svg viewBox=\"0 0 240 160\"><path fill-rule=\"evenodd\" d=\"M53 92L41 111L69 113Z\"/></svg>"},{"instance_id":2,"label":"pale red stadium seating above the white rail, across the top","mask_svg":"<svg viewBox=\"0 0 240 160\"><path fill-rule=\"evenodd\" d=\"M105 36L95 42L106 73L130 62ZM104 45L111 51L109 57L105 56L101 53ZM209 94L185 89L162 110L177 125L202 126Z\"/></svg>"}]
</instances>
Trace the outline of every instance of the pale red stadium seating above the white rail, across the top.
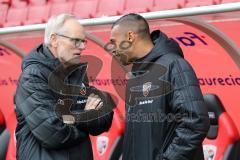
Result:
<instances>
[{"instance_id":1,"label":"pale red stadium seating above the white rail, across the top","mask_svg":"<svg viewBox=\"0 0 240 160\"><path fill-rule=\"evenodd\" d=\"M0 0L0 16L3 17L0 19L0 27L45 23L49 17L60 13L72 13L78 18L93 18L233 1L240 0L171 0L171 3L168 0ZM15 7L17 4L19 6Z\"/></svg>"}]
</instances>

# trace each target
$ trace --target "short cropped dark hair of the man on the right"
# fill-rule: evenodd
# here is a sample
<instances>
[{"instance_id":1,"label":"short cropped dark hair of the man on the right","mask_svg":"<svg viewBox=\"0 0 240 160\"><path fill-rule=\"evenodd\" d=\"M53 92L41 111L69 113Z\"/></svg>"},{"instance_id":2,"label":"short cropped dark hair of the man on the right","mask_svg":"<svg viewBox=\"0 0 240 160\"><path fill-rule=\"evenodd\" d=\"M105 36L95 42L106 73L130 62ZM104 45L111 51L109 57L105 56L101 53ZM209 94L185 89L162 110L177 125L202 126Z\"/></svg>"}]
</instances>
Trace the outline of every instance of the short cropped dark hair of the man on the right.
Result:
<instances>
[{"instance_id":1,"label":"short cropped dark hair of the man on the right","mask_svg":"<svg viewBox=\"0 0 240 160\"><path fill-rule=\"evenodd\" d=\"M117 25L124 26L128 29L134 30L142 38L150 38L150 29L148 22L145 18L143 18L139 14L129 13L122 16L113 23L112 28Z\"/></svg>"}]
</instances>

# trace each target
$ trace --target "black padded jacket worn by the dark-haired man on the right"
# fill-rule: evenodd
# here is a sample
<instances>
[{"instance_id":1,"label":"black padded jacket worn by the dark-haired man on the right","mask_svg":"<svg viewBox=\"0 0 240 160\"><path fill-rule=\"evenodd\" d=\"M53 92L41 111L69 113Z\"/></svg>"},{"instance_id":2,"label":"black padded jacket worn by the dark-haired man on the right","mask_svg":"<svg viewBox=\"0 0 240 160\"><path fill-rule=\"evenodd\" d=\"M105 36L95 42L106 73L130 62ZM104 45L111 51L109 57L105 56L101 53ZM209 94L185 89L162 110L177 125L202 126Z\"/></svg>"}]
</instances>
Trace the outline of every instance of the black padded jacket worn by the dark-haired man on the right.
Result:
<instances>
[{"instance_id":1,"label":"black padded jacket worn by the dark-haired man on the right","mask_svg":"<svg viewBox=\"0 0 240 160\"><path fill-rule=\"evenodd\" d=\"M127 83L123 160L203 160L209 118L197 77L174 40L151 36Z\"/></svg>"}]
</instances>

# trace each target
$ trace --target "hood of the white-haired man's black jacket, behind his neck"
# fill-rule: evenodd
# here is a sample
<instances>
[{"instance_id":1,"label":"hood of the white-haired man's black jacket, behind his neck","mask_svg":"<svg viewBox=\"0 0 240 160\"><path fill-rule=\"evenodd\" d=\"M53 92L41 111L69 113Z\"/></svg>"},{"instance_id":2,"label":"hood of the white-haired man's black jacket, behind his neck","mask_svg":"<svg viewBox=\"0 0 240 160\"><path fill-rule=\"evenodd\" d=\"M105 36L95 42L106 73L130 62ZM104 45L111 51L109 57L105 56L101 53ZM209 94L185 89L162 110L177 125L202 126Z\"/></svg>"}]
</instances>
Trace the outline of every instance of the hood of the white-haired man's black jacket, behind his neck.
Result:
<instances>
[{"instance_id":1,"label":"hood of the white-haired man's black jacket, behind his neck","mask_svg":"<svg viewBox=\"0 0 240 160\"><path fill-rule=\"evenodd\" d=\"M41 64L48 68L55 68L58 64L60 64L60 61L52 55L47 46L41 44L24 57L22 70L32 64Z\"/></svg>"}]
</instances>

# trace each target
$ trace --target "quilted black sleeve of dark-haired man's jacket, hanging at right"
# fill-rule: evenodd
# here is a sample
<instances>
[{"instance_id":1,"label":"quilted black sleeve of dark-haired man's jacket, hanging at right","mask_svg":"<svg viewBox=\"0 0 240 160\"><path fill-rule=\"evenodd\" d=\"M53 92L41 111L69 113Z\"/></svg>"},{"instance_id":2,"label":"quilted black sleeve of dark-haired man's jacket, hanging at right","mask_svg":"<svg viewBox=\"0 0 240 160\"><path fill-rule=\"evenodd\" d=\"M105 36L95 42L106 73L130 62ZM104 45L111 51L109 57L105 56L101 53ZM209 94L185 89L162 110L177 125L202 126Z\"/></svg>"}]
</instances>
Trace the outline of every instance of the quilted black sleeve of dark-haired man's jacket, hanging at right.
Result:
<instances>
[{"instance_id":1,"label":"quilted black sleeve of dark-haired man's jacket, hanging at right","mask_svg":"<svg viewBox=\"0 0 240 160\"><path fill-rule=\"evenodd\" d=\"M209 129L207 108L194 70L184 59L177 59L170 65L170 106L176 115L182 115L177 123L174 138L163 153L168 160L190 160L194 151L202 147Z\"/></svg>"}]
</instances>

